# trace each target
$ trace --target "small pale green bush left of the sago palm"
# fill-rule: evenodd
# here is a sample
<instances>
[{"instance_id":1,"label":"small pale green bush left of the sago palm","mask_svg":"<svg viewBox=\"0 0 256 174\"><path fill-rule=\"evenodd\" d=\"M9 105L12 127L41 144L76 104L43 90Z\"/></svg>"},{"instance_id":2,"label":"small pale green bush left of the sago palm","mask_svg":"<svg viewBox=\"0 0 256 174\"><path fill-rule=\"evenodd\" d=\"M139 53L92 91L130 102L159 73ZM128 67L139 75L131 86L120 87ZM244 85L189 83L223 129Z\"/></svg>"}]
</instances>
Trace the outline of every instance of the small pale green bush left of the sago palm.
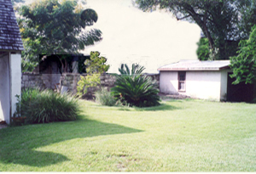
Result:
<instances>
[{"instance_id":1,"label":"small pale green bush left of the sago palm","mask_svg":"<svg viewBox=\"0 0 256 174\"><path fill-rule=\"evenodd\" d=\"M107 88L103 88L96 92L96 102L106 106L114 106L117 104L117 99L113 94L108 92Z\"/></svg>"}]
</instances>

